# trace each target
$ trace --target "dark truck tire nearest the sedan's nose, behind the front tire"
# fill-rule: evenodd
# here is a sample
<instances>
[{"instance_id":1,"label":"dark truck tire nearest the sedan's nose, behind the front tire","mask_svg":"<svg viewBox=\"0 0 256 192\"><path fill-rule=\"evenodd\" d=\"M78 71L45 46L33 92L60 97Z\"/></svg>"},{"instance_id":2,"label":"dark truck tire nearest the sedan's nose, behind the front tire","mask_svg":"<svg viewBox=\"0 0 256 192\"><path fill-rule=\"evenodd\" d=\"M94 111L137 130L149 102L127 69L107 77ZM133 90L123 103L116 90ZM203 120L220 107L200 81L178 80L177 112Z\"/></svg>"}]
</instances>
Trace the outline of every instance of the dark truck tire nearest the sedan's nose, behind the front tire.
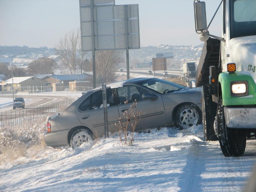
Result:
<instances>
[{"instance_id":1,"label":"dark truck tire nearest the sedan's nose, behind the front tire","mask_svg":"<svg viewBox=\"0 0 256 192\"><path fill-rule=\"evenodd\" d=\"M205 84L202 87L202 119L203 137L206 141L217 141L213 123L217 115L217 103L212 101L212 95L218 94L217 85Z\"/></svg>"}]
</instances>

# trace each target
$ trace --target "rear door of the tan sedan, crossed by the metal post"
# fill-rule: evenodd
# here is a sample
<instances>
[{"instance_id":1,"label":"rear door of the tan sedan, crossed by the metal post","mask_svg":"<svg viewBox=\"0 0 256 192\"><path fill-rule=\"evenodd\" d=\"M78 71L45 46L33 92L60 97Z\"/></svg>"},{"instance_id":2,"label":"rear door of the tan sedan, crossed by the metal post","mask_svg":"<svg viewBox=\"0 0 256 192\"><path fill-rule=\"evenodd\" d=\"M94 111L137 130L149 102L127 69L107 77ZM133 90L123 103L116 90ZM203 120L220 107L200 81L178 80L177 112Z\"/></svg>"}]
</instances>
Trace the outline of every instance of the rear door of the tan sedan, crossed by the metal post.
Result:
<instances>
[{"instance_id":1,"label":"rear door of the tan sedan, crossed by the metal post","mask_svg":"<svg viewBox=\"0 0 256 192\"><path fill-rule=\"evenodd\" d=\"M119 113L112 89L107 89L107 112L109 131L116 131L115 122L119 121ZM79 104L77 110L79 121L96 131L99 135L104 134L104 115L102 90L99 90Z\"/></svg>"}]
</instances>

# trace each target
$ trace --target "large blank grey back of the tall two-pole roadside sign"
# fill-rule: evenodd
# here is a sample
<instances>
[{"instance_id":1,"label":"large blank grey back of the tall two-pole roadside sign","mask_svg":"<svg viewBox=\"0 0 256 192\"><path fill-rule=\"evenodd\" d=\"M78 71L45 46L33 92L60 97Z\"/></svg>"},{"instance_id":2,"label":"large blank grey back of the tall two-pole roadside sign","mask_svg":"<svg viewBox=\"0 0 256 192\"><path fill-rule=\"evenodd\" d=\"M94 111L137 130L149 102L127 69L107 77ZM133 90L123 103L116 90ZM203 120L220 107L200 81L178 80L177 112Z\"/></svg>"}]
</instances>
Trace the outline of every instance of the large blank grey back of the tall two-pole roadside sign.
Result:
<instances>
[{"instance_id":1,"label":"large blank grey back of the tall two-pole roadside sign","mask_svg":"<svg viewBox=\"0 0 256 192\"><path fill-rule=\"evenodd\" d=\"M91 43L93 42L91 30L91 8L89 7L90 5L88 5L89 1L90 0L80 0L81 39L83 51L91 51ZM104 6L99 5L99 3L104 2ZM113 0L94 0L93 26L95 50L126 49L126 34L128 35L129 49L139 49L140 37L138 5L110 5L113 2Z\"/></svg>"}]
</instances>

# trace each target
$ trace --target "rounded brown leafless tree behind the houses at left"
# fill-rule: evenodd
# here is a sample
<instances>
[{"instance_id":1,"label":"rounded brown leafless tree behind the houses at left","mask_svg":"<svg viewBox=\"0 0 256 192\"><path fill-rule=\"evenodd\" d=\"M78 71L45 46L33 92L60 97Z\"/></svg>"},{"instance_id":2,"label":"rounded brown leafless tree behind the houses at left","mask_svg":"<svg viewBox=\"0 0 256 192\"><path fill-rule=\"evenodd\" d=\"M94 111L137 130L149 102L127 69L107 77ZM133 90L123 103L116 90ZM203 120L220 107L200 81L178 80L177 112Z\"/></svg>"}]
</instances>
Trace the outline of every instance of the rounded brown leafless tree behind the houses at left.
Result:
<instances>
[{"instance_id":1,"label":"rounded brown leafless tree behind the houses at left","mask_svg":"<svg viewBox=\"0 0 256 192\"><path fill-rule=\"evenodd\" d=\"M53 59L43 57L29 63L28 68L33 74L50 74L56 66Z\"/></svg>"}]
</instances>

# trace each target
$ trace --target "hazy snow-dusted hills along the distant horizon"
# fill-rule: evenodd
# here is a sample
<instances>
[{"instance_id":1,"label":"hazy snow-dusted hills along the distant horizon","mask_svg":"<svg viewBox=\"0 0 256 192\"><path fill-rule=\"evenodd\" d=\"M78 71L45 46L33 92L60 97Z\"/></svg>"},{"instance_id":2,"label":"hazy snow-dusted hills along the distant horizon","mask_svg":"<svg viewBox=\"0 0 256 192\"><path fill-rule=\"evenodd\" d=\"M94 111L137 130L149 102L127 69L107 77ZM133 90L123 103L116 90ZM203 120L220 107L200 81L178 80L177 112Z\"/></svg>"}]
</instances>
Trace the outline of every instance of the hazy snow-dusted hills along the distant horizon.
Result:
<instances>
[{"instance_id":1,"label":"hazy snow-dusted hills along the distant horizon","mask_svg":"<svg viewBox=\"0 0 256 192\"><path fill-rule=\"evenodd\" d=\"M194 61L199 60L202 53L203 44L198 46L172 46L172 45L162 45L158 46L146 46L141 47L141 49L129 50L130 61L136 63L149 62L155 57L156 53L168 53L172 52L174 54L174 59L172 62L175 65L180 65L183 60ZM0 58L10 57L11 55L17 53L26 53L25 55L18 55L16 58L23 59L37 59L40 57L50 57L58 61L56 56L55 48L47 47L28 47L28 46L0 46ZM90 53L88 55L91 55ZM18 60L17 60L18 62Z\"/></svg>"}]
</instances>

